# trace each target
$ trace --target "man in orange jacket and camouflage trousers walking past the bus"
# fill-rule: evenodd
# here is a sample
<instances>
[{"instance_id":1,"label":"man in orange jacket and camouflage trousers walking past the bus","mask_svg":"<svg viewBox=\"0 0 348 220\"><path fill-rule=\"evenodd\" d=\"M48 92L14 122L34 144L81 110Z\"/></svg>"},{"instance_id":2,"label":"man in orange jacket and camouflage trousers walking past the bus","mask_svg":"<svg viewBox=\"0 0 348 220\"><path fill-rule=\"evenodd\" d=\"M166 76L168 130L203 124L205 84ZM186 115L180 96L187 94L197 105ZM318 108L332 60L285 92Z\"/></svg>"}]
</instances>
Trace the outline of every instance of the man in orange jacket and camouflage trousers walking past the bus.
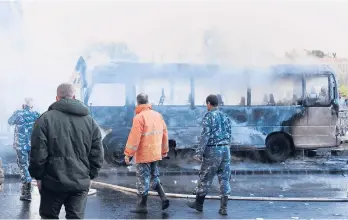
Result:
<instances>
[{"instance_id":1,"label":"man in orange jacket and camouflage trousers walking past the bus","mask_svg":"<svg viewBox=\"0 0 348 220\"><path fill-rule=\"evenodd\" d=\"M147 196L153 188L162 200L162 210L169 207L169 200L159 179L158 161L169 151L167 126L160 113L152 110L148 96L137 96L136 116L124 150L125 161L134 157L136 163L138 204L135 213L147 213Z\"/></svg>"}]
</instances>

